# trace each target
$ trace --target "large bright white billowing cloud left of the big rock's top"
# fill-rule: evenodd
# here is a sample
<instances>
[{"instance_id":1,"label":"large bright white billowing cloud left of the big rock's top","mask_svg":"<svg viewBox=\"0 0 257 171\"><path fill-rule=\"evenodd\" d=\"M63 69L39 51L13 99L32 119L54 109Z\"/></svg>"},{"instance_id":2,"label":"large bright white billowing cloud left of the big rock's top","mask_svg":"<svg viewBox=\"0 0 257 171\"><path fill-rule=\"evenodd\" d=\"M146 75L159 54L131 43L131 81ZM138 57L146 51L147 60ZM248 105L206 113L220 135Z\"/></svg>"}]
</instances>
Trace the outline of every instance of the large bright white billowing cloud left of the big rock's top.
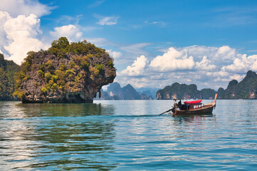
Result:
<instances>
[{"instance_id":1,"label":"large bright white billowing cloud left of the big rock's top","mask_svg":"<svg viewBox=\"0 0 257 171\"><path fill-rule=\"evenodd\" d=\"M26 58L28 51L39 51L44 48L44 44L38 40L41 34L40 19L36 15L19 15L16 18L7 17L4 24L4 32L8 39L8 44L4 49L10 54L9 60L21 64Z\"/></svg>"}]
</instances>

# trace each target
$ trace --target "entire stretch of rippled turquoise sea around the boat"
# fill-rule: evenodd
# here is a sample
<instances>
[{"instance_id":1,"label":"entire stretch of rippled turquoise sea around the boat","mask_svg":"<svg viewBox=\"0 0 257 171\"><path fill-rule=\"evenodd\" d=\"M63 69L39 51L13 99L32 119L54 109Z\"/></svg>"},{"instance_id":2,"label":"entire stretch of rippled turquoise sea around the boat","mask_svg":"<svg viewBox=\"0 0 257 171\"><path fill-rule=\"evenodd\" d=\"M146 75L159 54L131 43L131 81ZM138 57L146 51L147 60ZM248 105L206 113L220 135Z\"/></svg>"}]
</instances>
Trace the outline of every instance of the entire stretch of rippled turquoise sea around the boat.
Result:
<instances>
[{"instance_id":1,"label":"entire stretch of rippled turquoise sea around the boat","mask_svg":"<svg viewBox=\"0 0 257 171\"><path fill-rule=\"evenodd\" d=\"M0 102L0 168L256 170L257 100L218 100L214 115L158 115L171 105Z\"/></svg>"}]
</instances>

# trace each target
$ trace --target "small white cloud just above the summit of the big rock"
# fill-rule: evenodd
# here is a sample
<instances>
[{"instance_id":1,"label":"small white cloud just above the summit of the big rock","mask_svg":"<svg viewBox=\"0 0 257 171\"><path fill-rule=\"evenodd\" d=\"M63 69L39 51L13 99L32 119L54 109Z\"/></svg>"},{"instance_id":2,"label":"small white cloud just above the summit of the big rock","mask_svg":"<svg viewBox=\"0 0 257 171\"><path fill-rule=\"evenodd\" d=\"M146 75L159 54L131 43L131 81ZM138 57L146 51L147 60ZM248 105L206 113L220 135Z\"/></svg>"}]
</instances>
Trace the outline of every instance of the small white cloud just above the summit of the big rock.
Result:
<instances>
[{"instance_id":1,"label":"small white cloud just above the summit of the big rock","mask_svg":"<svg viewBox=\"0 0 257 171\"><path fill-rule=\"evenodd\" d=\"M66 37L69 41L74 42L80 41L83 33L80 31L80 28L70 24L68 26L56 27L54 31L50 31L50 34L53 38Z\"/></svg>"}]
</instances>

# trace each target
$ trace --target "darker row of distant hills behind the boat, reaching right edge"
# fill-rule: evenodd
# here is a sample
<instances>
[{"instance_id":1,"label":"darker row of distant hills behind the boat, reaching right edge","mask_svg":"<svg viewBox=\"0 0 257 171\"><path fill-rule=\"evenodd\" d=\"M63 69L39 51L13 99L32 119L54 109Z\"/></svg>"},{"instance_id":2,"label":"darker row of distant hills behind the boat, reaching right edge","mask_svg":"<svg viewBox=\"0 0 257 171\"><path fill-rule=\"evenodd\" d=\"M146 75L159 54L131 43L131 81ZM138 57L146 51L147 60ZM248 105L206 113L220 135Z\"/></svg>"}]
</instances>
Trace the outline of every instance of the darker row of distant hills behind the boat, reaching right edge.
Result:
<instances>
[{"instance_id":1,"label":"darker row of distant hills behind the boat, reaching right edge","mask_svg":"<svg viewBox=\"0 0 257 171\"><path fill-rule=\"evenodd\" d=\"M253 71L248 71L241 82L230 81L226 90L219 88L217 92L211 88L197 90L195 84L173 83L172 86L166 86L162 90L158 90L156 96L157 100L176 98L213 99L215 93L218 93L218 99L256 99L257 75Z\"/></svg>"}]
</instances>

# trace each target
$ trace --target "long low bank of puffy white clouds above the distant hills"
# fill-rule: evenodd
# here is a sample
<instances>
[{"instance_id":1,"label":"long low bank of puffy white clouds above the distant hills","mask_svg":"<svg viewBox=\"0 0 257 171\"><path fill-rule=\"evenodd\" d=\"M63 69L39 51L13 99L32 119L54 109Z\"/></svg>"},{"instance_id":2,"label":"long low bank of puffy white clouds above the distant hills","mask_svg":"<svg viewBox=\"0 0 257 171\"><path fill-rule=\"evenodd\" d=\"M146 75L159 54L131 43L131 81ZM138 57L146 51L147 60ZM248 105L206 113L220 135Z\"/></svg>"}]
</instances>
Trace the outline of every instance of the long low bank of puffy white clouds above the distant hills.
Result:
<instances>
[{"instance_id":1,"label":"long low bank of puffy white clouds above the distant hills","mask_svg":"<svg viewBox=\"0 0 257 171\"><path fill-rule=\"evenodd\" d=\"M117 81L126 83L130 79L136 87L163 88L179 82L218 89L226 88L231 79L240 81L248 70L257 71L257 55L247 56L229 46L170 47L149 60L150 64L142 59L137 58L132 66L121 71Z\"/></svg>"}]
</instances>

